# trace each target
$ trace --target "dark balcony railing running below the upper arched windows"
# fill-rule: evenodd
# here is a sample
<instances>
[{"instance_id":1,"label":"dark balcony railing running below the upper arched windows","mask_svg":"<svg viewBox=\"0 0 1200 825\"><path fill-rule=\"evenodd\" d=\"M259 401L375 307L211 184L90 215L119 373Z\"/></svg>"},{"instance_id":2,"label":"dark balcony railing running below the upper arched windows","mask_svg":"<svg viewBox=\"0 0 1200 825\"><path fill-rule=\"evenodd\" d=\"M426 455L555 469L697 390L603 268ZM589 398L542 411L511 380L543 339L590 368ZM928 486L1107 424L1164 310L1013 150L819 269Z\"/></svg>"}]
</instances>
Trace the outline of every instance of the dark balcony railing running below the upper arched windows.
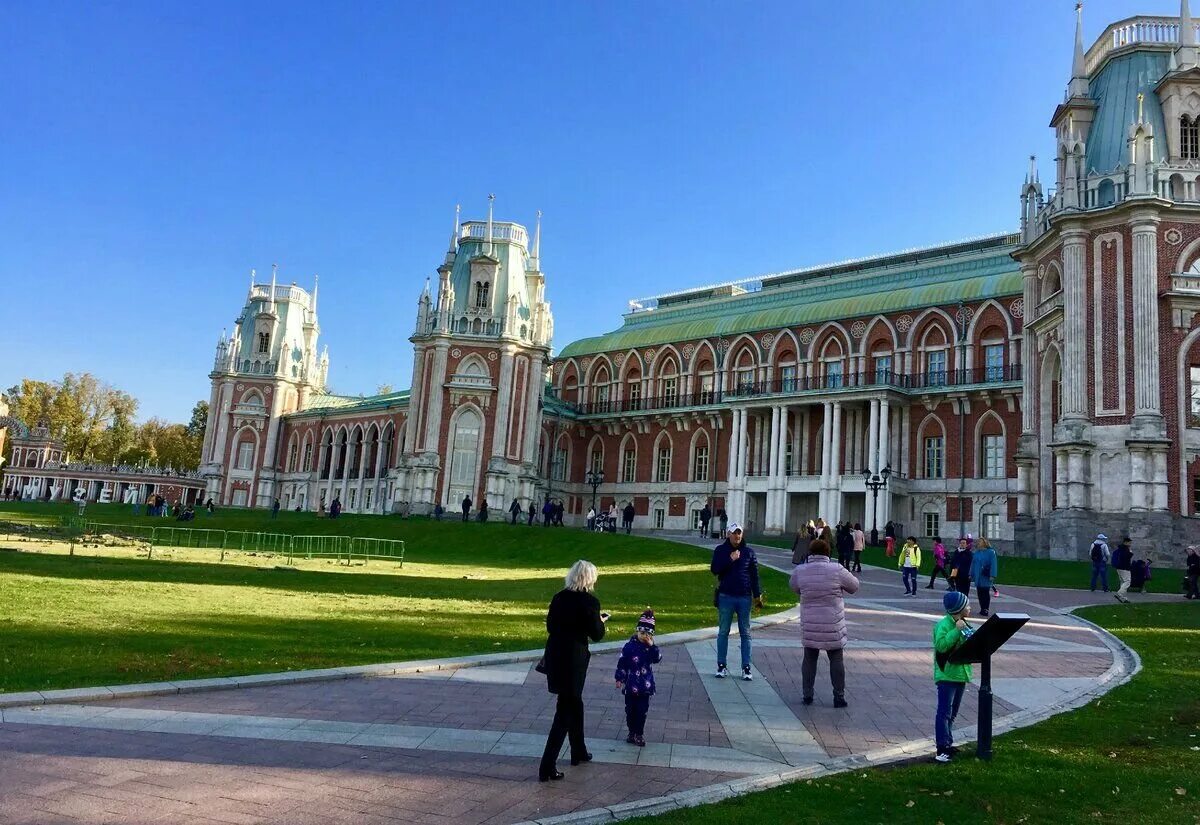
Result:
<instances>
[{"instance_id":1,"label":"dark balcony railing running below the upper arched windows","mask_svg":"<svg viewBox=\"0 0 1200 825\"><path fill-rule=\"evenodd\" d=\"M887 371L845 373L814 378L776 378L770 381L738 384L724 393L701 391L690 395L652 396L648 398L622 398L574 404L580 415L613 415L618 412L644 412L671 410L683 407L709 407L737 398L760 396L788 396L802 392L829 392L863 387L893 387L896 390L938 390L942 387L1006 384L1021 380L1021 365L976 367L973 369L947 369L901 375Z\"/></svg>"}]
</instances>

